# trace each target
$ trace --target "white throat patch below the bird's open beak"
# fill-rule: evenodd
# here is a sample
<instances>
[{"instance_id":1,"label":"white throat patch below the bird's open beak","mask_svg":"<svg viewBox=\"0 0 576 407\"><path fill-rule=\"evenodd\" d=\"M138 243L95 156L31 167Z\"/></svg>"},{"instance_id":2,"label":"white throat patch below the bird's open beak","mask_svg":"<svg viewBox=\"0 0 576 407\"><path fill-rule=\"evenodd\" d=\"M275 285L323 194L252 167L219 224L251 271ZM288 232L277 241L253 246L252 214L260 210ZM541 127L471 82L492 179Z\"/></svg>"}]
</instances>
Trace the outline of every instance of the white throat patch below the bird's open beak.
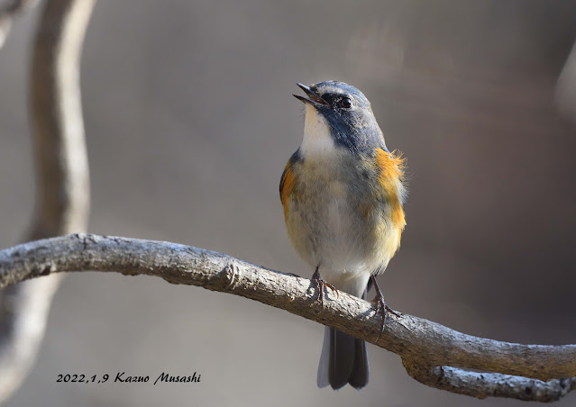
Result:
<instances>
[{"instance_id":1,"label":"white throat patch below the bird's open beak","mask_svg":"<svg viewBox=\"0 0 576 407\"><path fill-rule=\"evenodd\" d=\"M332 156L336 153L334 139L325 117L311 104L306 104L304 139L300 145L304 157Z\"/></svg>"}]
</instances>

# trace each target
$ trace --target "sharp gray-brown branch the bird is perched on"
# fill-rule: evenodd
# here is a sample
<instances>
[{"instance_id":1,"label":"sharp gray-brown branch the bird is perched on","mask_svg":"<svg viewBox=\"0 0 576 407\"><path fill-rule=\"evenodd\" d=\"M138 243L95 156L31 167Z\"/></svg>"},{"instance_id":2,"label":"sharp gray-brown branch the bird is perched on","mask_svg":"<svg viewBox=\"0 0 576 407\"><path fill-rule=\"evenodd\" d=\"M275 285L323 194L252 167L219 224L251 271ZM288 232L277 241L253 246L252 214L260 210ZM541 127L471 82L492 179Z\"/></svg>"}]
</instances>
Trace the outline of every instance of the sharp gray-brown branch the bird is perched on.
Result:
<instances>
[{"instance_id":1,"label":"sharp gray-brown branch the bird is perched on","mask_svg":"<svg viewBox=\"0 0 576 407\"><path fill-rule=\"evenodd\" d=\"M306 278L206 249L169 242L74 234L0 251L0 286L66 271L160 276L241 295L342 330L402 357L419 382L479 398L551 402L576 388L576 345L522 345L466 335L415 316L381 314L373 303L325 291ZM480 369L475 373L462 369ZM565 378L570 377L570 378Z\"/></svg>"}]
</instances>

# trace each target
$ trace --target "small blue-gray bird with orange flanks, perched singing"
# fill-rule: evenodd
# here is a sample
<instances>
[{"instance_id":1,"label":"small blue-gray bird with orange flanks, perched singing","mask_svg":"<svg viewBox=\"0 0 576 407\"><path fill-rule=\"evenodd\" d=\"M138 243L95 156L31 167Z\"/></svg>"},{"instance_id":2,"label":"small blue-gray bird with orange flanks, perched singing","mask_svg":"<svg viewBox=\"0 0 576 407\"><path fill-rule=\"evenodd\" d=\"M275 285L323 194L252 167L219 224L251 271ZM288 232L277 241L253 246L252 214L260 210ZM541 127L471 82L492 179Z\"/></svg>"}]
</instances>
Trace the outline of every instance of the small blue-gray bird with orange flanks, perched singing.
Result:
<instances>
[{"instance_id":1,"label":"small blue-gray bird with orange flanks, perched singing","mask_svg":"<svg viewBox=\"0 0 576 407\"><path fill-rule=\"evenodd\" d=\"M400 246L406 225L404 161L386 147L370 102L353 86L326 81L297 84L307 97L304 138L280 180L290 243L323 287L364 298L370 277L382 273ZM383 322L383 321L382 321ZM368 384L366 344L325 329L318 387Z\"/></svg>"}]
</instances>

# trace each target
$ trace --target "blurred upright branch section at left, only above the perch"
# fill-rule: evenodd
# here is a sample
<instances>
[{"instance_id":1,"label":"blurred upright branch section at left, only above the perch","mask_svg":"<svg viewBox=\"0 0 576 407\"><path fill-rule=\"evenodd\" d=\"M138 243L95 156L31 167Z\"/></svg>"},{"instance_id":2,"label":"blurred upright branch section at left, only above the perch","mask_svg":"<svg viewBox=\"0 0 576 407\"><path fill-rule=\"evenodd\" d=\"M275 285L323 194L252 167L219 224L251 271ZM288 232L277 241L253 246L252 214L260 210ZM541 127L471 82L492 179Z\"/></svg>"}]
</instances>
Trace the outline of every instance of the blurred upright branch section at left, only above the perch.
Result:
<instances>
[{"instance_id":1,"label":"blurred upright branch section at left, only above the perch","mask_svg":"<svg viewBox=\"0 0 576 407\"><path fill-rule=\"evenodd\" d=\"M32 236L85 231L90 188L80 99L82 42L95 0L48 0L32 53L36 176Z\"/></svg>"}]
</instances>

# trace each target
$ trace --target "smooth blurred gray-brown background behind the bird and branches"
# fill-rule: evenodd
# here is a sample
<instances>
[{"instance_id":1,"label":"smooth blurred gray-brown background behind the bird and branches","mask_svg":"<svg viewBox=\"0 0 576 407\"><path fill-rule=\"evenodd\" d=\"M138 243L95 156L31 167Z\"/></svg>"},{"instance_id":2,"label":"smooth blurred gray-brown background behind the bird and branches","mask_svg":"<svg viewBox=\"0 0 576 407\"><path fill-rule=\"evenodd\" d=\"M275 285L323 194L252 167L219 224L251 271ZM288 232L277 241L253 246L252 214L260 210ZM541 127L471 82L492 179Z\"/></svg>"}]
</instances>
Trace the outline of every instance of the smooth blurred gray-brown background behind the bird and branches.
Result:
<instances>
[{"instance_id":1,"label":"smooth blurred gray-brown background behind the bird and branches","mask_svg":"<svg viewBox=\"0 0 576 407\"><path fill-rule=\"evenodd\" d=\"M2 247L31 220L37 15L14 22L0 50ZM575 343L576 125L570 80L557 88L575 39L576 1L99 0L81 71L89 231L311 276L278 194L303 131L291 94L296 82L343 80L409 167L402 249L379 278L387 303L473 335ZM233 295L71 274L7 405L525 405L428 388L371 345L366 389L318 390L323 333ZM56 383L123 371L201 383Z\"/></svg>"}]
</instances>

